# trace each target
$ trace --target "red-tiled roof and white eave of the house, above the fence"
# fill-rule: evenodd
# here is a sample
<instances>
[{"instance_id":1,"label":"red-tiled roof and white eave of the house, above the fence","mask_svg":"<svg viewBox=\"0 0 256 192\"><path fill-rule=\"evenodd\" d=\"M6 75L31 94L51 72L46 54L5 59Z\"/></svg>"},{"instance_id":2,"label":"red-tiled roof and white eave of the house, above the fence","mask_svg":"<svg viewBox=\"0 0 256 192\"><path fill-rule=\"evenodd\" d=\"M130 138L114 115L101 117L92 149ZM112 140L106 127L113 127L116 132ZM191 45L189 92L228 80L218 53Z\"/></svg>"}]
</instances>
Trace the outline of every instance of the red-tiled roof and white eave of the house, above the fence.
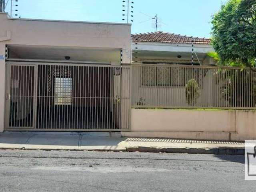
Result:
<instances>
[{"instance_id":1,"label":"red-tiled roof and white eave of the house, above the fence","mask_svg":"<svg viewBox=\"0 0 256 192\"><path fill-rule=\"evenodd\" d=\"M214 49L210 39L181 36L167 32L132 35L133 63L212 65L207 56ZM193 49L193 51L192 51Z\"/></svg>"}]
</instances>

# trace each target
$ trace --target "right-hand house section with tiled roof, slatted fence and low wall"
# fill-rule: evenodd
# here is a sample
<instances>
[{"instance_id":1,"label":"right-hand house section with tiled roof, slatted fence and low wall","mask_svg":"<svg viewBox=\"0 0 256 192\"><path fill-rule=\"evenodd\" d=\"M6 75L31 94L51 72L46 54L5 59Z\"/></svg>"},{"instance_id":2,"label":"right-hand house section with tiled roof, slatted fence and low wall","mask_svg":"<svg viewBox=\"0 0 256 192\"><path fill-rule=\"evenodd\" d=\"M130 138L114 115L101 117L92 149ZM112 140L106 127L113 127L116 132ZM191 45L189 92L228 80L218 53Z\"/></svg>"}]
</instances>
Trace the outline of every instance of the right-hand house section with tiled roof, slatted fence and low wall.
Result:
<instances>
[{"instance_id":1,"label":"right-hand house section with tiled roof, slatted fence and low wall","mask_svg":"<svg viewBox=\"0 0 256 192\"><path fill-rule=\"evenodd\" d=\"M256 112L238 110L256 109L255 73L215 66L210 39L153 32L132 40L132 132L124 136L256 138Z\"/></svg>"}]
</instances>

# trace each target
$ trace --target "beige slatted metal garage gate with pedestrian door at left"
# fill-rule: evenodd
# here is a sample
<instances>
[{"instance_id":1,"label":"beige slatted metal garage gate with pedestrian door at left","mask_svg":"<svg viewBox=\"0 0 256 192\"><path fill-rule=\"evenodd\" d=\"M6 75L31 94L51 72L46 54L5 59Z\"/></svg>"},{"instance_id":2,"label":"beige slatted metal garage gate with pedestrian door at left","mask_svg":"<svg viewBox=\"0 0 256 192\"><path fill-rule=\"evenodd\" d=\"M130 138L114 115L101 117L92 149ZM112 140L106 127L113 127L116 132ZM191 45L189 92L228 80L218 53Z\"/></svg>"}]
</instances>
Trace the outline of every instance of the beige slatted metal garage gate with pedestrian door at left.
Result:
<instances>
[{"instance_id":1,"label":"beige slatted metal garage gate with pedestrian door at left","mask_svg":"<svg viewBox=\"0 0 256 192\"><path fill-rule=\"evenodd\" d=\"M7 63L6 130L130 127L130 66Z\"/></svg>"}]
</instances>

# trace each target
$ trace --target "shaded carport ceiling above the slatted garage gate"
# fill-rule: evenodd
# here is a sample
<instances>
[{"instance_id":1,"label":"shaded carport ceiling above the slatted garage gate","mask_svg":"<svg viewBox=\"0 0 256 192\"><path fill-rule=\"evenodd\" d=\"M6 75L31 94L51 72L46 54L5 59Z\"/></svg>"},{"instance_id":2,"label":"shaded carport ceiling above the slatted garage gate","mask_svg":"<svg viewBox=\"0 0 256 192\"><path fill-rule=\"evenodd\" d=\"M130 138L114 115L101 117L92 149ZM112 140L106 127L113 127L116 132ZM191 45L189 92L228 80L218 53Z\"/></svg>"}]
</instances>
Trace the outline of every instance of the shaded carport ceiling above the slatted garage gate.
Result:
<instances>
[{"instance_id":1,"label":"shaded carport ceiling above the slatted garage gate","mask_svg":"<svg viewBox=\"0 0 256 192\"><path fill-rule=\"evenodd\" d=\"M120 49L81 48L58 46L8 45L9 58L13 59L46 59L90 62L120 62Z\"/></svg>"}]
</instances>

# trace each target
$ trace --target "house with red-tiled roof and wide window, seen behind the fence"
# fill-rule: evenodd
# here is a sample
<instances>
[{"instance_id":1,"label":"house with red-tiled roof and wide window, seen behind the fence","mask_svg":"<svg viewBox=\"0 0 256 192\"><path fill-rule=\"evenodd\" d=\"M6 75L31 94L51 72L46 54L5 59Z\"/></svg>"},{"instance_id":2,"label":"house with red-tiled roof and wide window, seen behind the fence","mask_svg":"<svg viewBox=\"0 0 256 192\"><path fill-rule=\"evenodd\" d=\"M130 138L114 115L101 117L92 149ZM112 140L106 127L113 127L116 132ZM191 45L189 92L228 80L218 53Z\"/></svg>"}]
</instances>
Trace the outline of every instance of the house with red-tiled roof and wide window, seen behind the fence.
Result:
<instances>
[{"instance_id":1,"label":"house with red-tiled roof and wide window, seen behind the fence","mask_svg":"<svg viewBox=\"0 0 256 192\"><path fill-rule=\"evenodd\" d=\"M212 73L186 67L214 65L214 60L207 55L214 51L210 39L152 32L132 35L132 46L133 64L138 69L134 70L134 77L140 76L132 84L133 106L140 106L138 103L143 100L144 107L188 108L185 85L190 79L195 79L201 90L197 106L214 106L220 102L217 95L208 98ZM154 92L163 93L152 94Z\"/></svg>"}]
</instances>

